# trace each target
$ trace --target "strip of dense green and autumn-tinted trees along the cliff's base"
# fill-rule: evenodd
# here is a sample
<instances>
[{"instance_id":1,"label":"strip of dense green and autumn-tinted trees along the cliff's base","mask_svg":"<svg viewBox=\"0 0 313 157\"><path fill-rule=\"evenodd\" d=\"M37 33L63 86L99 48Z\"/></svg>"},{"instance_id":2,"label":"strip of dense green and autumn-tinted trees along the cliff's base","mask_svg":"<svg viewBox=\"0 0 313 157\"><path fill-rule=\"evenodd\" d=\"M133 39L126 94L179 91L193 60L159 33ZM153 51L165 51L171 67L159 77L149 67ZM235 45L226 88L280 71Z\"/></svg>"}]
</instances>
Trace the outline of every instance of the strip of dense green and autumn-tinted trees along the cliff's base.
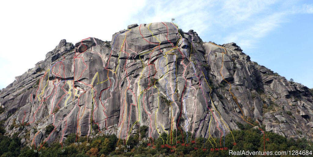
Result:
<instances>
[{"instance_id":1,"label":"strip of dense green and autumn-tinted trees along the cliff's base","mask_svg":"<svg viewBox=\"0 0 313 157\"><path fill-rule=\"evenodd\" d=\"M123 145L123 140L119 140L115 135L104 135L98 133L97 136L91 138L80 137L76 141L76 135L70 134L64 140L62 146L59 142L54 142L51 145L44 144L39 151L34 146L30 149L29 146L21 146L18 134L9 138L3 135L3 123L0 124L0 156L228 156L228 150L250 150L263 151L264 150L264 135L259 130L255 130L248 125L240 125L242 130L234 130L233 136L236 141L234 144L233 136L228 134L225 136L225 142L221 139L197 138L190 140L191 134L188 133L188 142L186 141L187 134L184 134L184 140L180 131L177 131L177 140L173 140L175 145L166 145L167 135L162 134L160 138L155 139L152 144L148 140L139 140L139 134L130 136L127 145ZM141 138L147 137L147 126L141 126ZM175 136L176 137L176 136ZM305 139L293 140L287 139L283 136L274 134L272 132L265 132L265 150L266 151L287 151L287 150L313 150L312 142ZM164 144L163 144L164 140ZM169 140L169 138L168 138ZM117 145L117 143L119 144ZM169 141L168 141L169 143ZM212 145L215 147L212 147ZM225 143L225 145L224 145ZM42 143L41 143L42 145ZM216 147L217 145L217 147ZM222 145L222 146L221 146ZM173 148L173 146L175 148ZM169 148L171 147L171 148ZM212 148L213 151L212 151ZM207 150L203 150L207 149ZM222 150L223 149L223 150Z\"/></svg>"}]
</instances>

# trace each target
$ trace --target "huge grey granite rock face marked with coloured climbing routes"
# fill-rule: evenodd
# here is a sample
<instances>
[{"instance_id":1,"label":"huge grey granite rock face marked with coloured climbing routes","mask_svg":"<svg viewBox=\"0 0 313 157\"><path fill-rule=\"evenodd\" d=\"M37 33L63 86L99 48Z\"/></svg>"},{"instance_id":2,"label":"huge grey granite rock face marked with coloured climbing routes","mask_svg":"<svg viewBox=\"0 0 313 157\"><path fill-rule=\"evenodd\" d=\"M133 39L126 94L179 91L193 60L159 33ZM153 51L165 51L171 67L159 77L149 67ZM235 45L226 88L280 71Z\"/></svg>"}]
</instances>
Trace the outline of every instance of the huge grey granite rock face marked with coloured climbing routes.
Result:
<instances>
[{"instance_id":1,"label":"huge grey granite rock face marked with coloured climbing routes","mask_svg":"<svg viewBox=\"0 0 313 157\"><path fill-rule=\"evenodd\" d=\"M127 141L143 125L169 141L181 131L220 137L239 123L313 138L307 87L250 61L236 43L202 42L169 22L132 24L111 42L61 40L0 98L7 134L19 130L31 145L99 131Z\"/></svg>"}]
</instances>

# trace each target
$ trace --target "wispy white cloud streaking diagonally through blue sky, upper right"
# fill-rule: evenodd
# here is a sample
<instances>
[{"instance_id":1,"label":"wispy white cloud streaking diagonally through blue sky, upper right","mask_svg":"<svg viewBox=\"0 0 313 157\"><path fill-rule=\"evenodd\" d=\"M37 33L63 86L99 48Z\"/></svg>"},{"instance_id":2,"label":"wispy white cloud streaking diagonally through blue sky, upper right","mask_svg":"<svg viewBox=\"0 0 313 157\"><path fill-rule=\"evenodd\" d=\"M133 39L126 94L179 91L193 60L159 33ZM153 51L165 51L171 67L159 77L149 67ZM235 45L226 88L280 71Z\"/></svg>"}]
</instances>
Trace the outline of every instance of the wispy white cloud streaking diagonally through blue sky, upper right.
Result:
<instances>
[{"instance_id":1,"label":"wispy white cloud streaking diagonally through blue sky, upper right","mask_svg":"<svg viewBox=\"0 0 313 157\"><path fill-rule=\"evenodd\" d=\"M242 22L242 28L233 31L228 36L224 37L223 41L225 43L236 42L243 49L255 48L259 39L267 36L271 31L280 27L282 23L288 22L288 16L291 14L313 13L313 5L303 4L298 6L291 3L292 1L288 2L290 6L284 6L284 10L275 10L276 8L271 9L270 5L275 4L276 2L278 1L264 1L264 3L260 4L260 2L251 1L247 2L248 4L244 5L244 7L235 7L242 11L231 11L232 13L234 12L232 14L232 19L239 19L239 21ZM245 7L249 9L244 9ZM267 12L265 15L258 14L264 11ZM236 24L238 22L232 21L230 23Z\"/></svg>"}]
</instances>

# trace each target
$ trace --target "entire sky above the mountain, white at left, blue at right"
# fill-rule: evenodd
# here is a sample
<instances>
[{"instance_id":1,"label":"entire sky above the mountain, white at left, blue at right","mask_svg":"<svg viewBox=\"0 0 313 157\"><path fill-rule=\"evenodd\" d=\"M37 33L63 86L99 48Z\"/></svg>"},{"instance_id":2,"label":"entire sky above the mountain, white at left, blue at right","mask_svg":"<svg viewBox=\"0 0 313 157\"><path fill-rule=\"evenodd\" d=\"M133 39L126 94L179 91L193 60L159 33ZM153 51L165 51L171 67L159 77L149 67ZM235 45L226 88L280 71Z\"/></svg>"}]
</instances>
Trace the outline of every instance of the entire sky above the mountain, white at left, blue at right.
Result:
<instances>
[{"instance_id":1,"label":"entire sky above the mountain, white at left, blue at right","mask_svg":"<svg viewBox=\"0 0 313 157\"><path fill-rule=\"evenodd\" d=\"M172 18L203 41L236 42L252 61L313 88L313 1L6 1L0 13L0 89L44 60L61 39L111 40L129 24Z\"/></svg>"}]
</instances>

